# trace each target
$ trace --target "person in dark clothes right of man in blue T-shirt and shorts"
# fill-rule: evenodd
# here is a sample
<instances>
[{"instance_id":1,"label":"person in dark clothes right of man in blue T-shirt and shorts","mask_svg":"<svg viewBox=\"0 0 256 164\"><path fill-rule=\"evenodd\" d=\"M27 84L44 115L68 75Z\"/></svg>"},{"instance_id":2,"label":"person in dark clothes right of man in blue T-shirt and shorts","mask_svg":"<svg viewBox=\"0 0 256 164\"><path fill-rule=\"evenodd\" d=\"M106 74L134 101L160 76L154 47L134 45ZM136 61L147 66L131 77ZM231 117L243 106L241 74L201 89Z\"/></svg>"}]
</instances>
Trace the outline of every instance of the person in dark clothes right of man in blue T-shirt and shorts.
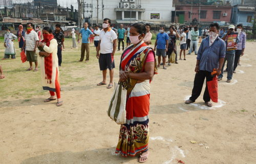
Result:
<instances>
[{"instance_id":1,"label":"person in dark clothes right of man in blue T-shirt and shorts","mask_svg":"<svg viewBox=\"0 0 256 164\"><path fill-rule=\"evenodd\" d=\"M169 28L169 43L168 43L168 51L167 51L167 55L168 55L168 59L170 59L170 55L174 52L176 54L175 57L175 63L178 64L177 62L177 52L176 52L176 35L177 33L174 32L174 27L170 27ZM179 35L179 34L178 34ZM169 60L168 60L168 65L171 65Z\"/></svg>"}]
</instances>

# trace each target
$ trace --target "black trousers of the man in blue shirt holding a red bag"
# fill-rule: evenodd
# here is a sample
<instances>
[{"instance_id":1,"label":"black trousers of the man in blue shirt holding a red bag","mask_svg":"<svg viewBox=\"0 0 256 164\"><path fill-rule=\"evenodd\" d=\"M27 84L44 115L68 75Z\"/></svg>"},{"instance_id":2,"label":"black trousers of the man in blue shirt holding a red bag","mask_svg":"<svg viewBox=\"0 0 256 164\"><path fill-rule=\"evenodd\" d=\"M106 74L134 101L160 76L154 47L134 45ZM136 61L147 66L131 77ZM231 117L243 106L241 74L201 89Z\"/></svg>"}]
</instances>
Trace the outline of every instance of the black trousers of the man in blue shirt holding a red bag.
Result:
<instances>
[{"instance_id":1,"label":"black trousers of the man in blue shirt holding a red bag","mask_svg":"<svg viewBox=\"0 0 256 164\"><path fill-rule=\"evenodd\" d=\"M194 87L192 90L192 95L189 98L189 100L191 101L196 101L197 98L200 96L200 93L202 91L203 88L203 84L204 84L204 79L206 78L206 82L207 81L211 81L212 80L212 76L210 75L211 73L208 71L199 71L199 73L196 74L195 76L195 80L194 80ZM204 102L209 102L210 101L210 96L209 96L209 92L208 92L208 86L206 83L206 87L204 90Z\"/></svg>"}]
</instances>

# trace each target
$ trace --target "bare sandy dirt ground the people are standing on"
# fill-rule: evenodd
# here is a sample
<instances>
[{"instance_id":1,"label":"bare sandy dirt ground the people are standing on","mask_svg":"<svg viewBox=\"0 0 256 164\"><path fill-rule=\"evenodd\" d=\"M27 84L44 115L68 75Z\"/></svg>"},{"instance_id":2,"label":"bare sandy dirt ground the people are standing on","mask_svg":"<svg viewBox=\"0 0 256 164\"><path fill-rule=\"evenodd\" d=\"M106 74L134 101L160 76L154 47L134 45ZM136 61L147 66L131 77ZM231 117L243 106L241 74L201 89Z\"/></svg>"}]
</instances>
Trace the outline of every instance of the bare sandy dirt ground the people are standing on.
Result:
<instances>
[{"instance_id":1,"label":"bare sandy dirt ground the people are standing on","mask_svg":"<svg viewBox=\"0 0 256 164\"><path fill-rule=\"evenodd\" d=\"M79 54L79 50L66 48L65 54L74 52ZM231 83L225 82L224 74L219 82L220 101L212 108L204 106L202 96L194 104L184 104L193 88L194 53L167 70L159 68L151 83L151 140L146 163L170 164L178 160L186 164L256 163L255 52L256 42L247 42L238 73L233 74ZM115 56L116 66L119 58ZM16 88L11 82L9 85L8 78L28 88L36 85L36 90L27 91L31 93L29 99L23 95L18 98L2 95L1 164L137 163L137 157L122 158L114 153L119 125L106 114L113 89L96 86L102 80L97 60L89 63L77 60L78 56L72 61L64 58L60 68L60 80L66 81L61 85L64 103L61 107L56 107L56 102L43 102L48 92L37 94L41 91L40 79L35 83L24 81L26 77L11 77L11 72L18 70L17 77L23 74L29 78L33 73L24 72L28 63L22 69L13 66L12 70L8 67L11 60L2 63L7 77L0 83L5 86L0 95ZM72 67L67 67L68 64ZM36 73L37 78L39 74ZM67 82L69 78L80 80ZM114 81L118 82L118 68Z\"/></svg>"}]
</instances>

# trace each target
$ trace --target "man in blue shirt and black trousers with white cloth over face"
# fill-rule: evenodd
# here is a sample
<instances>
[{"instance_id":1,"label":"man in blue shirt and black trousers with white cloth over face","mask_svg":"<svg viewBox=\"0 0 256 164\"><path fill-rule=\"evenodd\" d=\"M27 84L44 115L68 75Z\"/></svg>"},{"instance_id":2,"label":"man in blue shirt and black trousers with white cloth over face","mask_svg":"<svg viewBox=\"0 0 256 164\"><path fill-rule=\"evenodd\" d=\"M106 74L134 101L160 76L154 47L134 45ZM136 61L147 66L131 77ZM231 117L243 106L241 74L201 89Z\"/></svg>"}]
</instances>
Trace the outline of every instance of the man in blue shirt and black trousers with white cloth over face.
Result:
<instances>
[{"instance_id":1,"label":"man in blue shirt and black trousers with white cloth over face","mask_svg":"<svg viewBox=\"0 0 256 164\"><path fill-rule=\"evenodd\" d=\"M204 79L211 81L215 76L211 76L214 68L217 69L217 76L221 74L221 68L225 58L226 44L219 36L219 24L210 24L209 37L203 39L197 54L197 65L195 68L196 76L191 97L185 101L185 104L194 103L200 96L203 88ZM205 105L211 107L208 86L206 83L204 91Z\"/></svg>"}]
</instances>

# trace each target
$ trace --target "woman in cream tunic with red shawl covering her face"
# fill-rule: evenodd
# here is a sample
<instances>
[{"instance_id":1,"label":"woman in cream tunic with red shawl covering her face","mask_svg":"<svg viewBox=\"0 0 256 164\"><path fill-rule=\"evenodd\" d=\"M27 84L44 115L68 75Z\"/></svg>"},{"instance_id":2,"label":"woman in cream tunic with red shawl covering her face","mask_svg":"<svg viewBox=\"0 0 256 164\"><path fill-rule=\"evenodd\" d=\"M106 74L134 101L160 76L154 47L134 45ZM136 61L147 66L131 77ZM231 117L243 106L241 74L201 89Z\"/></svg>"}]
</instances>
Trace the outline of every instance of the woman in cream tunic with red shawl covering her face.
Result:
<instances>
[{"instance_id":1,"label":"woman in cream tunic with red shawl covering her face","mask_svg":"<svg viewBox=\"0 0 256 164\"><path fill-rule=\"evenodd\" d=\"M42 88L49 90L51 97L46 99L45 102L56 100L57 106L62 105L60 99L60 85L59 85L59 68L58 68L58 43L52 35L52 30L49 27L42 29L44 40L39 43L38 49L40 50L39 56L41 57L41 79Z\"/></svg>"}]
</instances>

